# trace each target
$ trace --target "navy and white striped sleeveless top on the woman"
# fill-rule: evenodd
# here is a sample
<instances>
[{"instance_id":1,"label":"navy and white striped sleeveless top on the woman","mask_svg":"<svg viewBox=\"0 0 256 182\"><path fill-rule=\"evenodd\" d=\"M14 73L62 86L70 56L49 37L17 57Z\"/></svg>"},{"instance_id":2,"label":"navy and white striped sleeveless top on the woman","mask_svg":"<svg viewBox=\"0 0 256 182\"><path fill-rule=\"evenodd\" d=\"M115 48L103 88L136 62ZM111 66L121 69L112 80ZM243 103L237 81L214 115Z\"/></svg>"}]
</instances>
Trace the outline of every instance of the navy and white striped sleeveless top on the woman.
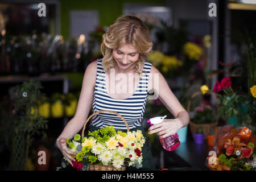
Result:
<instances>
[{"instance_id":1,"label":"navy and white striped sleeveless top on the woman","mask_svg":"<svg viewBox=\"0 0 256 182\"><path fill-rule=\"evenodd\" d=\"M108 95L105 85L105 71L101 65L102 59L97 60L97 77L93 98L93 113L98 110L110 110L121 114L129 125L129 129L141 126L145 105L148 98L148 77L150 74L151 63L144 61L143 76L139 81L133 96L125 99L114 99ZM113 126L115 130L125 130L126 125L122 118L114 113L98 113L92 117L90 125L97 127Z\"/></svg>"}]
</instances>

